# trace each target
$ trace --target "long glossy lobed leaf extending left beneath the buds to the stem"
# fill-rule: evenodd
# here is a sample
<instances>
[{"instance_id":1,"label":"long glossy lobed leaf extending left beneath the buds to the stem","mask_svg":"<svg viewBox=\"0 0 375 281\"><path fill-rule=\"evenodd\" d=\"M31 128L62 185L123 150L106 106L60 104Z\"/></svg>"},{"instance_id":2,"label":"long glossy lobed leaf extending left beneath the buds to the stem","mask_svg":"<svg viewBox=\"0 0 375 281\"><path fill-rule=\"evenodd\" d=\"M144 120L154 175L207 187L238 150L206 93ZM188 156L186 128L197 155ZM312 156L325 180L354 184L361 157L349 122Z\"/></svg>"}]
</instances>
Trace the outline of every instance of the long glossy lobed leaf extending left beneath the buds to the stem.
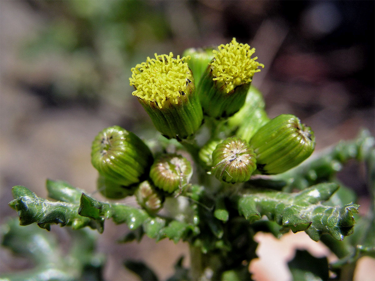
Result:
<instances>
[{"instance_id":1,"label":"long glossy lobed leaf extending left beneath the buds to the stem","mask_svg":"<svg viewBox=\"0 0 375 281\"><path fill-rule=\"evenodd\" d=\"M61 201L40 198L21 185L12 188L15 199L9 206L18 212L20 225L37 223L46 230L51 229L51 224L72 226L73 229L89 226L102 233L105 219L112 218L116 224L126 223L130 229L138 229L137 234L126 236L123 242L139 241L146 233L156 240L168 237L177 243L199 233L194 224L151 216L142 209L121 203L100 202L63 181L48 180L47 188L49 196Z\"/></svg>"}]
</instances>

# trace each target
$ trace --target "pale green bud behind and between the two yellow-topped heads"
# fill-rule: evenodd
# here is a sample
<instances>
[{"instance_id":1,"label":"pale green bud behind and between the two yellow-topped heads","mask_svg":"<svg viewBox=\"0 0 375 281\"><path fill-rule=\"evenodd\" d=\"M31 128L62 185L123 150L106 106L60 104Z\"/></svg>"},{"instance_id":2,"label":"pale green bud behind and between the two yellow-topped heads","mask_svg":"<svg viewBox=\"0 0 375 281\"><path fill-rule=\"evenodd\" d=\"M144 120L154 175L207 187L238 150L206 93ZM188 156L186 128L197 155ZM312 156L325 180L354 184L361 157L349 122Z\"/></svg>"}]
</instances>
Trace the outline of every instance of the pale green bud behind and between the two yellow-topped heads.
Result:
<instances>
[{"instance_id":1,"label":"pale green bud behind and between the two yellow-topped heads","mask_svg":"<svg viewBox=\"0 0 375 281\"><path fill-rule=\"evenodd\" d=\"M198 87L199 81L201 80L203 72L207 69L208 63L213 59L212 48L190 48L186 49L182 54L187 57L186 62L191 71L195 81L195 86ZM190 58L188 58L190 57Z\"/></svg>"}]
</instances>

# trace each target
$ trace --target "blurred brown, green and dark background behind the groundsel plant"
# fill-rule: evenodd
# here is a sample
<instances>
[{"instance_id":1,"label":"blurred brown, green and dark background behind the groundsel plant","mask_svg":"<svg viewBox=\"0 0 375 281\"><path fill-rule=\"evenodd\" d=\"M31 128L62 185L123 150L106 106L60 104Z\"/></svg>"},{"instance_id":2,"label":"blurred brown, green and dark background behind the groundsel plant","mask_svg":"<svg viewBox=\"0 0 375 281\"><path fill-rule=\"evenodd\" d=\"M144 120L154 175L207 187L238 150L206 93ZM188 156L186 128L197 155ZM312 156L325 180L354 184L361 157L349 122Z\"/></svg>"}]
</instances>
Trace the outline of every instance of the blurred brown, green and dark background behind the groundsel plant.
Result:
<instances>
[{"instance_id":1,"label":"blurred brown, green and dark background behind the groundsel plant","mask_svg":"<svg viewBox=\"0 0 375 281\"><path fill-rule=\"evenodd\" d=\"M93 194L97 173L90 148L105 127L154 135L131 95L129 76L131 67L155 52L176 56L186 48L217 46L236 37L255 47L265 65L253 85L263 92L269 116L300 117L315 132L316 151L354 138L361 128L374 134L374 1L0 5L1 223L16 216L7 206L13 185L45 197L45 179L62 179ZM360 167L349 163L341 179L366 206ZM52 231L65 235L60 227ZM141 245L115 244L126 232L126 226L107 221L99 237L99 250L108 255L107 280L135 278L121 266L126 257L144 259L166 278L175 260L187 253L183 243L155 244L147 238ZM12 262L7 250L0 253L1 272L30 266Z\"/></svg>"}]
</instances>

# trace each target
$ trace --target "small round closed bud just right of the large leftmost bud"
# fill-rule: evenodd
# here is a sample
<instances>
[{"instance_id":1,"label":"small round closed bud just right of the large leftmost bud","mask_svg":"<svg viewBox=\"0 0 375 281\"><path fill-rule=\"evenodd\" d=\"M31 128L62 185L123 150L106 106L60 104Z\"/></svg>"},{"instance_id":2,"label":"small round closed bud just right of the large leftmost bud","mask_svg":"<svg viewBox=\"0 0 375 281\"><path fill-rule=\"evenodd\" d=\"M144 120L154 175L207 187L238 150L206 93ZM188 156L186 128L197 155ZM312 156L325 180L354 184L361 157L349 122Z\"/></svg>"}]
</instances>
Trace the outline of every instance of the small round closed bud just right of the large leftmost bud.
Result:
<instances>
[{"instance_id":1,"label":"small round closed bud just right of the large leftmost bud","mask_svg":"<svg viewBox=\"0 0 375 281\"><path fill-rule=\"evenodd\" d=\"M192 174L190 162L177 154L162 155L150 168L150 178L155 186L168 193L189 183Z\"/></svg>"}]
</instances>

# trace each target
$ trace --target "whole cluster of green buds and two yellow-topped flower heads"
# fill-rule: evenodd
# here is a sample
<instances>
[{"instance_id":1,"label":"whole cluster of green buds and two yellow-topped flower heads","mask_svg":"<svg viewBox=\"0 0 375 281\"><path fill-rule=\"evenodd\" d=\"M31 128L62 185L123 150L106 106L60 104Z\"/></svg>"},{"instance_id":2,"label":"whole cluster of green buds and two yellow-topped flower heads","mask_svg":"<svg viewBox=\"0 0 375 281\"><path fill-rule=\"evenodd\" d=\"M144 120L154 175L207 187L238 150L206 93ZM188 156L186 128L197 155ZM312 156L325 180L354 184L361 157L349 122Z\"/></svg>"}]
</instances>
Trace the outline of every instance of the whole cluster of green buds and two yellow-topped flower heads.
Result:
<instances>
[{"instance_id":1,"label":"whole cluster of green buds and two yellow-topped flower heads","mask_svg":"<svg viewBox=\"0 0 375 281\"><path fill-rule=\"evenodd\" d=\"M197 169L231 184L257 173L282 173L305 160L315 146L314 133L297 117L267 117L262 95L251 86L264 67L252 58L254 52L233 38L217 49L188 49L183 57L155 54L133 67L129 78L156 129L180 141ZM204 120L211 126L209 137L199 132ZM196 135L206 138L203 145L195 143ZM190 161L179 154L154 160L141 139L118 126L95 138L92 163L102 194L135 194L148 212L157 212L165 197L181 194L193 173Z\"/></svg>"}]
</instances>

